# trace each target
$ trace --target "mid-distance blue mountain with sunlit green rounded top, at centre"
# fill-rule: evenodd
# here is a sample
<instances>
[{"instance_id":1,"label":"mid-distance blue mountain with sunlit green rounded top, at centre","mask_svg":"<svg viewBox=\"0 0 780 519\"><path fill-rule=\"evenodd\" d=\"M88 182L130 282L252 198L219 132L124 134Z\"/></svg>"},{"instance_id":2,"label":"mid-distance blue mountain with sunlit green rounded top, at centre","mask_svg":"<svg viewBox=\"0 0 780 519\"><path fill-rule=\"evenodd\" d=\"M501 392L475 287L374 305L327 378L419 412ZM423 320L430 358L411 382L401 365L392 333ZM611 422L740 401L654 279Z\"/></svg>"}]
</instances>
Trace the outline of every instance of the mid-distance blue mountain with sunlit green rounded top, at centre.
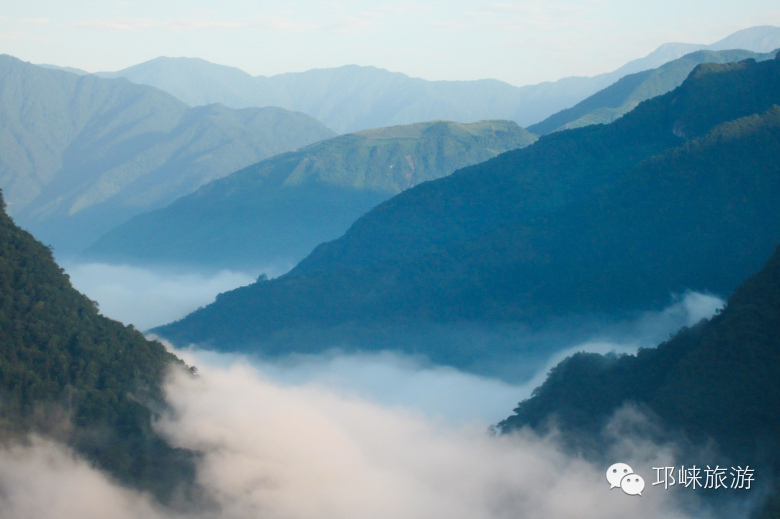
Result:
<instances>
[{"instance_id":1,"label":"mid-distance blue mountain with sunlit green rounded top, at centre","mask_svg":"<svg viewBox=\"0 0 780 519\"><path fill-rule=\"evenodd\" d=\"M534 140L509 121L437 121L342 135L277 155L136 216L85 257L287 270L379 202Z\"/></svg>"}]
</instances>

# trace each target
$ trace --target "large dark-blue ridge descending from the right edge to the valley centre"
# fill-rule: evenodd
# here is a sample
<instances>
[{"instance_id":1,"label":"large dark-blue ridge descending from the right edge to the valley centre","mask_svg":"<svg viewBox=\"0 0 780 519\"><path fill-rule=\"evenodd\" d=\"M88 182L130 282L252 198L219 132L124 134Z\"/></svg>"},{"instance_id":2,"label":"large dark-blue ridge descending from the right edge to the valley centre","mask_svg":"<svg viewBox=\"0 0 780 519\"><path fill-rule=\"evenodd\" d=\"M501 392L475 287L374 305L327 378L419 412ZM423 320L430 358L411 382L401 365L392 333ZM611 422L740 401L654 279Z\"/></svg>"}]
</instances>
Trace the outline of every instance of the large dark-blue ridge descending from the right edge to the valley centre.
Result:
<instances>
[{"instance_id":1,"label":"large dark-blue ridge descending from the right edge to the valley centre","mask_svg":"<svg viewBox=\"0 0 780 519\"><path fill-rule=\"evenodd\" d=\"M780 241L780 60L699 65L609 125L557 132L374 208L287 275L159 328L265 354L393 347L466 366L505 351L393 341L728 294Z\"/></svg>"}]
</instances>

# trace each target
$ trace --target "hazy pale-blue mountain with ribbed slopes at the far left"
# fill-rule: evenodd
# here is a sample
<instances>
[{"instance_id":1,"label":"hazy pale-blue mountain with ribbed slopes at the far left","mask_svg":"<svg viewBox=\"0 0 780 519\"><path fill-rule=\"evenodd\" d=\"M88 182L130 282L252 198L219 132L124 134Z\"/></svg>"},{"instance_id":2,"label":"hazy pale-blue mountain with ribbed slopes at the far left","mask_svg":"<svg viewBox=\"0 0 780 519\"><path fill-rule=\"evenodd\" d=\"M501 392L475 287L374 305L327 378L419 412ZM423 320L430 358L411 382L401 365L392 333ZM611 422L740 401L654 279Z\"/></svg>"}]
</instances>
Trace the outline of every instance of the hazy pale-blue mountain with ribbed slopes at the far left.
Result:
<instances>
[{"instance_id":1,"label":"hazy pale-blue mountain with ribbed slopes at the far left","mask_svg":"<svg viewBox=\"0 0 780 519\"><path fill-rule=\"evenodd\" d=\"M0 187L14 218L58 252L333 135L281 108L189 108L156 88L0 56Z\"/></svg>"}]
</instances>

